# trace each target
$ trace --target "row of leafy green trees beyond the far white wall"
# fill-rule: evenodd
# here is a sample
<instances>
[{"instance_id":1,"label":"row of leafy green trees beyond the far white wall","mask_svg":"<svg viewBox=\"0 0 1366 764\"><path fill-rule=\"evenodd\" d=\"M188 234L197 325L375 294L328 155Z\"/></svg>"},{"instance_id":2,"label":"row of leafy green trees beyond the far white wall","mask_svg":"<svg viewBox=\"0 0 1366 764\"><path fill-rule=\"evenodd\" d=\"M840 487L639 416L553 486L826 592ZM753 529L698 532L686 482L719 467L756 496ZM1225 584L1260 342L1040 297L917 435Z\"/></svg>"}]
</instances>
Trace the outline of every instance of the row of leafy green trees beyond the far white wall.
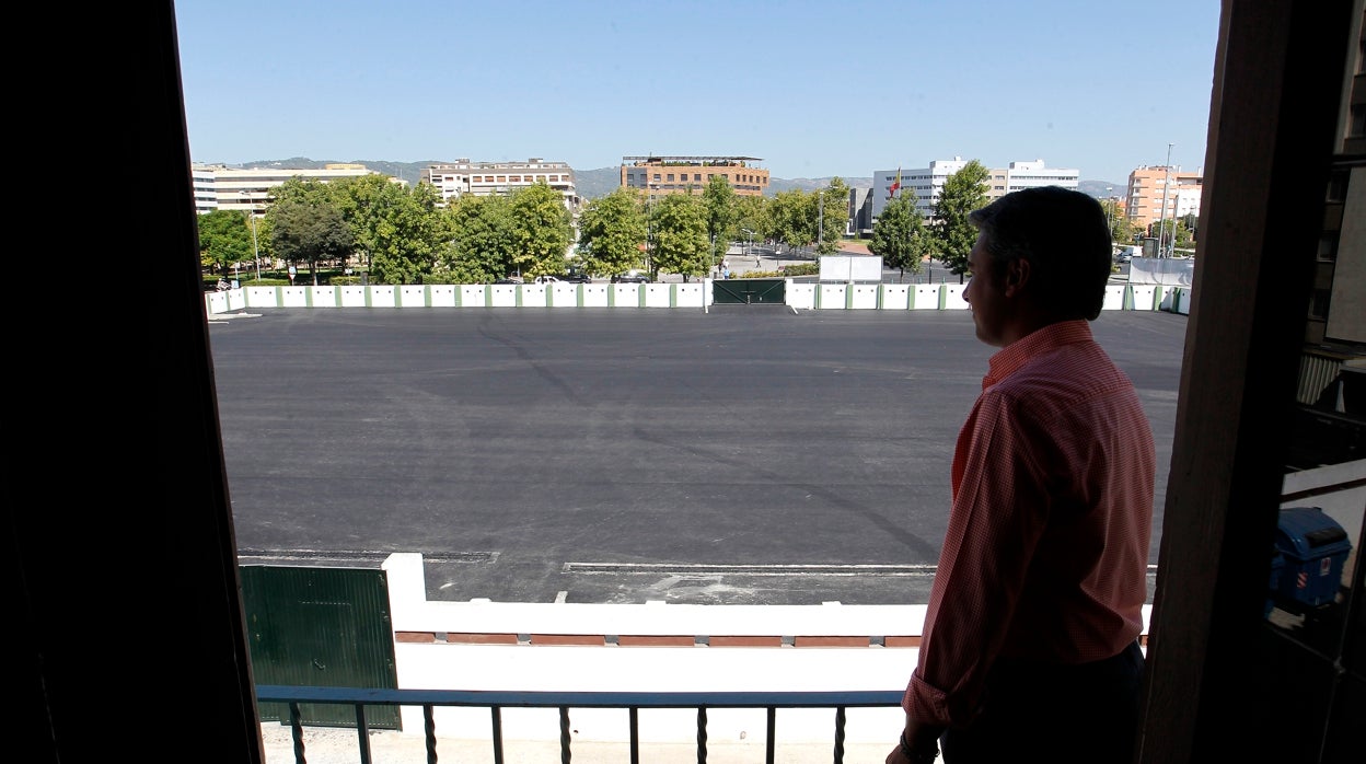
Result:
<instances>
[{"instance_id":1,"label":"row of leafy green trees beyond the far white wall","mask_svg":"<svg viewBox=\"0 0 1366 764\"><path fill-rule=\"evenodd\" d=\"M977 160L949 176L933 223L915 209L915 191L903 189L878 216L869 250L911 273L933 257L962 277L977 239L967 215L986 204L986 179ZM1134 241L1132 226L1111 212L1115 241ZM661 272L687 279L714 269L731 242L759 239L835 253L847 223L848 186L840 178L816 191L773 197L738 195L721 176L699 194L652 197L622 187L585 204L575 238L560 193L545 183L443 204L428 183L410 189L366 175L287 180L272 190L264 219L255 221L238 210L201 215L199 246L204 265L220 273L250 269L260 253L266 261L307 268L314 283L325 262L354 264L378 284L488 283L514 273L553 276L571 267L598 276L641 269L652 279Z\"/></svg>"}]
</instances>

